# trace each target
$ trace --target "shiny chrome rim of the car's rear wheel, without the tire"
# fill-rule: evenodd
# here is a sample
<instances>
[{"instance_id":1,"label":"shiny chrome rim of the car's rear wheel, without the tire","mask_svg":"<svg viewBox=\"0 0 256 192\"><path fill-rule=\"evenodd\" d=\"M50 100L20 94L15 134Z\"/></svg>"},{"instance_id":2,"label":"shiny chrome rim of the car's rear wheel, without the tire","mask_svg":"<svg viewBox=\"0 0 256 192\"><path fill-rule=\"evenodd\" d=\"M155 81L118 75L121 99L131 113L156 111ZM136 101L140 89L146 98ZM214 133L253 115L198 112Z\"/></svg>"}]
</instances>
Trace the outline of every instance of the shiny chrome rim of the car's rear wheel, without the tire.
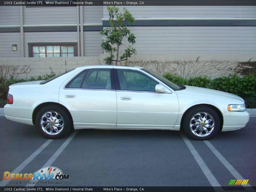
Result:
<instances>
[{"instance_id":1,"label":"shiny chrome rim of the car's rear wheel, without the tire","mask_svg":"<svg viewBox=\"0 0 256 192\"><path fill-rule=\"evenodd\" d=\"M64 127L64 119L56 111L47 111L40 120L42 130L49 135L57 135Z\"/></svg>"}]
</instances>

